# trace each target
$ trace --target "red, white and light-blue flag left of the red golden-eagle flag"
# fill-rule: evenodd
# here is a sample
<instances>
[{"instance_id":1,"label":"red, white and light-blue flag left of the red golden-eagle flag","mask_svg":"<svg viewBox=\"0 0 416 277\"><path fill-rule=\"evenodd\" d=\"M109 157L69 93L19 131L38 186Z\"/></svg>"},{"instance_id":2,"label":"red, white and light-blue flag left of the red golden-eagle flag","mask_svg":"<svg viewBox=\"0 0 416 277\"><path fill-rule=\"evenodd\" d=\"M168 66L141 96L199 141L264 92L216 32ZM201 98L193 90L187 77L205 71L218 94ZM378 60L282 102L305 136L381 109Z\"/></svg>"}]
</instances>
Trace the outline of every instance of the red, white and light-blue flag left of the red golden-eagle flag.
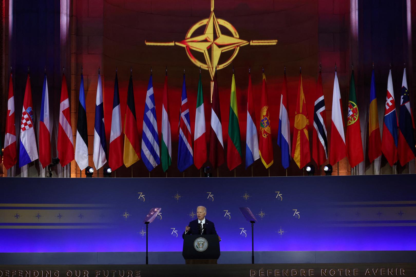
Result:
<instances>
[{"instance_id":1,"label":"red, white and light-blue flag left of the red golden-eagle flag","mask_svg":"<svg viewBox=\"0 0 416 277\"><path fill-rule=\"evenodd\" d=\"M253 88L251 85L251 74L248 75L248 95L247 95L247 134L245 138L245 168L249 167L255 160L260 159L259 139L253 102Z\"/></svg>"}]
</instances>

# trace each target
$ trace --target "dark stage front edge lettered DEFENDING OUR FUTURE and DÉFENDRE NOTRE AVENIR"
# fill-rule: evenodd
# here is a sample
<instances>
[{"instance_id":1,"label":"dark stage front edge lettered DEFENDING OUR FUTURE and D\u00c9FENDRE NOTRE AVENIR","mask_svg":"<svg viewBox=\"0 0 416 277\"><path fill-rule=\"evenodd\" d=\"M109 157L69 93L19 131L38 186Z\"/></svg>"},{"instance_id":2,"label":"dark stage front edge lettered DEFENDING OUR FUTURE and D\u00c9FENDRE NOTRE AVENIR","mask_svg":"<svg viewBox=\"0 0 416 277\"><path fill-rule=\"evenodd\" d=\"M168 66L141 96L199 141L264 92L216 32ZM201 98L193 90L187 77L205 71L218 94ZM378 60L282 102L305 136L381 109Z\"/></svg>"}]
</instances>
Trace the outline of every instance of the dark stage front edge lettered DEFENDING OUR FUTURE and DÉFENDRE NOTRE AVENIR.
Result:
<instances>
[{"instance_id":1,"label":"dark stage front edge lettered DEFENDING OUR FUTURE and D\u00c9FENDRE NOTRE AVENIR","mask_svg":"<svg viewBox=\"0 0 416 277\"><path fill-rule=\"evenodd\" d=\"M235 265L0 265L0 277L415 276L416 263Z\"/></svg>"}]
</instances>

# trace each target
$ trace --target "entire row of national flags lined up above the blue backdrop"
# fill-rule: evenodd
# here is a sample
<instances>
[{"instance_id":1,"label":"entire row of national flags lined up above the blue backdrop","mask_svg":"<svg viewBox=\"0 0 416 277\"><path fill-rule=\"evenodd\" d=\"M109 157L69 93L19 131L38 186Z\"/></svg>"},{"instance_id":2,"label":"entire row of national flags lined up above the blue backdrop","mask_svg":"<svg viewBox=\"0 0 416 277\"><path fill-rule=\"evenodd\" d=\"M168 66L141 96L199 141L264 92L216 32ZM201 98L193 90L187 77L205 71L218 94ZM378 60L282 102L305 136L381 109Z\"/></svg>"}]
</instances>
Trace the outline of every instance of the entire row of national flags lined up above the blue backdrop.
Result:
<instances>
[{"instance_id":1,"label":"entire row of national flags lined up above the blue backdrop","mask_svg":"<svg viewBox=\"0 0 416 277\"><path fill-rule=\"evenodd\" d=\"M47 77L42 89L42 104L39 125L39 152L36 145L35 129L33 121L32 93L30 76L27 75L25 96L20 122L20 149L19 167L22 167L39 158L40 164L45 168L51 163L51 126L49 113L49 96ZM248 80L247 103L247 136L245 151L245 167L249 167L257 159L261 159L266 168L273 164L272 129L270 112L267 99L267 86L265 74L262 74L262 96L260 119L256 121L253 103L253 90L251 75ZM377 99L375 91L374 69L371 76L370 106L369 106L369 159L373 162L381 153L384 154L389 164L393 166L400 160L402 165L414 159L416 150L414 143L414 120L410 109L409 91L407 89L406 69L404 69L399 120L396 116L396 104L394 101L391 70L389 72L386 105L384 112L384 132L380 135ZM72 127L70 120L69 98L65 75L62 75L62 88L59 107L59 129L57 152L62 167L75 159L81 170L88 166L88 135L87 113L85 105L84 78L81 75L79 88L79 106L77 120L76 144L72 139ZM351 167L357 166L364 160L361 127L355 92L354 71L351 74L347 129L344 134L344 119L342 115L342 101L339 90L337 71L335 70L334 88L332 97L331 138L328 147L325 102L322 89L322 76L319 72L317 82L317 95L314 101L313 133L312 133L312 159L322 165L329 159L330 164L339 162L348 157ZM7 101L7 121L5 132L5 146L3 164L9 169L17 162L17 143L15 132L15 105L13 96L12 74L10 74L9 94ZM242 143L238 119L237 95L234 74L231 82L230 107L228 120L228 149L227 166L230 170L242 163ZM183 74L183 86L181 94L180 119L178 125L178 169L183 172L195 164L200 169L209 159L213 167L219 167L225 162L224 142L222 133L220 100L218 94L217 75L213 82L213 95L210 118L209 153L207 151L207 137L205 124L205 110L201 74L198 82L198 96L195 115L195 129L192 139L191 120L186 93L185 74ZM163 87L162 103L162 134L161 144L156 119L156 106L153 91L152 75L146 92L144 118L141 143L139 130L136 125L136 110L134 105L133 78L130 76L127 91L126 116L124 128L121 123L121 109L119 99L119 86L117 73L114 82L114 98L111 120L111 132L109 147L106 145L104 128L104 106L101 75L98 75L97 95L95 105L93 161L96 169L99 169L108 161L113 170L123 164L130 167L142 159L146 168L151 171L162 164L166 172L172 163L171 124L169 121L168 86L167 75ZM282 166L289 167L293 158L297 166L302 169L311 162L310 142L308 126L310 125L306 109L305 94L302 86L302 74L299 77L299 85L296 100L295 122L292 142L290 140L290 122L287 105L287 78L283 77L283 87L280 94L280 113L278 124L277 144L281 149ZM259 129L257 129L259 126ZM123 132L124 130L124 132ZM259 134L257 132L259 130ZM108 151L107 151L108 150ZM329 152L329 154L328 154ZM39 155L38 155L39 153ZM107 160L108 158L108 160Z\"/></svg>"}]
</instances>

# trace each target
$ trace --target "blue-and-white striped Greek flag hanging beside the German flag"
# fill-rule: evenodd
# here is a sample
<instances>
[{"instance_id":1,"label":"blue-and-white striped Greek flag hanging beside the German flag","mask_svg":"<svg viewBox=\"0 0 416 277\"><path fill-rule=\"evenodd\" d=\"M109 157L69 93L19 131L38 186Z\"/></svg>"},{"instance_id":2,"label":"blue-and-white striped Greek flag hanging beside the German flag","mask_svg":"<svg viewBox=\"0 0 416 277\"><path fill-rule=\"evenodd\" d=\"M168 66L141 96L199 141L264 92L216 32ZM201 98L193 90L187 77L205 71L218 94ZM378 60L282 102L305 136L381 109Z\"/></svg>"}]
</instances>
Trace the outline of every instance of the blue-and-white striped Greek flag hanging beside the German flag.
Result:
<instances>
[{"instance_id":1,"label":"blue-and-white striped Greek flag hanging beside the German flag","mask_svg":"<svg viewBox=\"0 0 416 277\"><path fill-rule=\"evenodd\" d=\"M149 171L160 164L159 135L157 132L156 105L153 93L152 75L150 75L149 78L146 103L144 105L141 158Z\"/></svg>"}]
</instances>

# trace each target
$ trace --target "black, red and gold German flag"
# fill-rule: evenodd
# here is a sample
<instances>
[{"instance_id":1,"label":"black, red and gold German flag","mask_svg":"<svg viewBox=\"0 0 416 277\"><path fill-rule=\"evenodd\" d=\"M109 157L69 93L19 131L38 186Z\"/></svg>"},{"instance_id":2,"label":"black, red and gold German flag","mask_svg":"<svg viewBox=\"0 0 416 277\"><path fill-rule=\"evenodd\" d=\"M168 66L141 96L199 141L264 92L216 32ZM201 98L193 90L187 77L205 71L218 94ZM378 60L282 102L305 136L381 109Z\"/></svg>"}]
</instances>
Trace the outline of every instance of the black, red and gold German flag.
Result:
<instances>
[{"instance_id":1,"label":"black, red and gold German flag","mask_svg":"<svg viewBox=\"0 0 416 277\"><path fill-rule=\"evenodd\" d=\"M127 89L126 117L124 118L124 165L129 167L137 162L140 159L140 151L136 108L134 106L133 77L130 76L129 88Z\"/></svg>"}]
</instances>

